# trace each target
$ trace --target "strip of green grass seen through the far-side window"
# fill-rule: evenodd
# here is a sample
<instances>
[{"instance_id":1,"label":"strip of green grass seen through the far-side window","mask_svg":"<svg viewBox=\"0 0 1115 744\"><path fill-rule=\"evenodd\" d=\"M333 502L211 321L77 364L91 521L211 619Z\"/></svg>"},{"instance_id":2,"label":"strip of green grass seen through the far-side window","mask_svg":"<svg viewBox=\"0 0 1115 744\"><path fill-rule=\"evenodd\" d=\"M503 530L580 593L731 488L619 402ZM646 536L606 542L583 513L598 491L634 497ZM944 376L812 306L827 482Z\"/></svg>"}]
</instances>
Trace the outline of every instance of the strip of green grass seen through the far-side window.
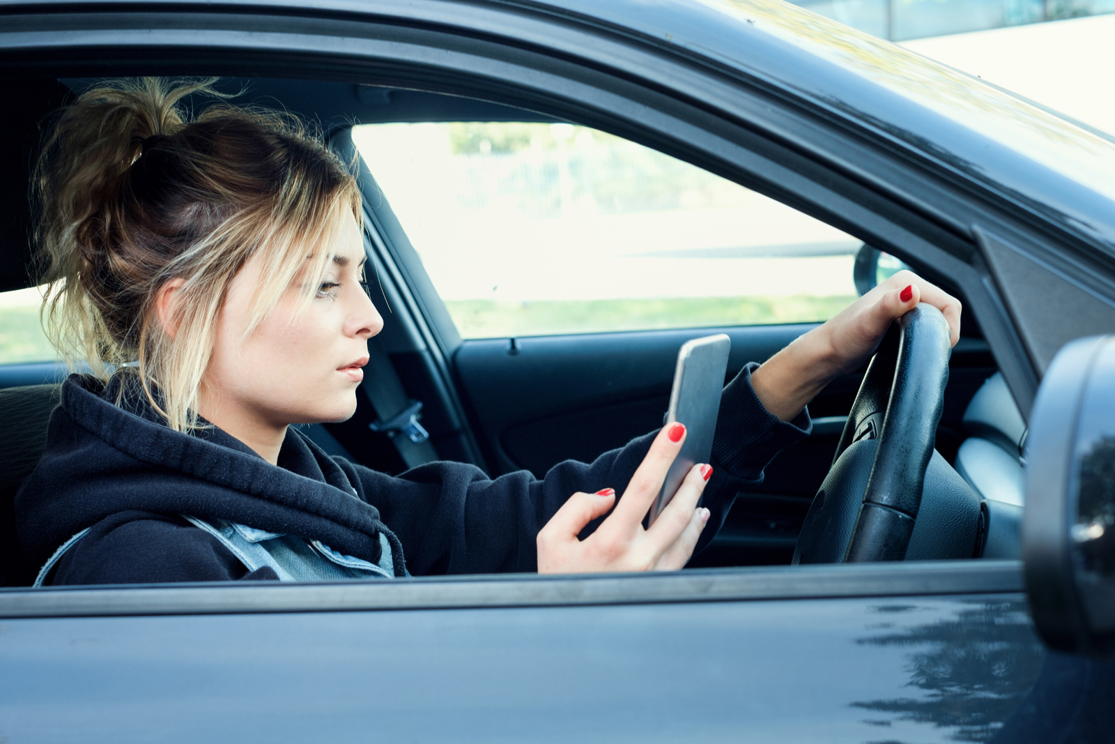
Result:
<instances>
[{"instance_id":1,"label":"strip of green grass seen through the far-side window","mask_svg":"<svg viewBox=\"0 0 1115 744\"><path fill-rule=\"evenodd\" d=\"M463 338L553 336L702 326L822 322L854 297L707 297L637 300L502 302L455 300L449 309Z\"/></svg>"}]
</instances>

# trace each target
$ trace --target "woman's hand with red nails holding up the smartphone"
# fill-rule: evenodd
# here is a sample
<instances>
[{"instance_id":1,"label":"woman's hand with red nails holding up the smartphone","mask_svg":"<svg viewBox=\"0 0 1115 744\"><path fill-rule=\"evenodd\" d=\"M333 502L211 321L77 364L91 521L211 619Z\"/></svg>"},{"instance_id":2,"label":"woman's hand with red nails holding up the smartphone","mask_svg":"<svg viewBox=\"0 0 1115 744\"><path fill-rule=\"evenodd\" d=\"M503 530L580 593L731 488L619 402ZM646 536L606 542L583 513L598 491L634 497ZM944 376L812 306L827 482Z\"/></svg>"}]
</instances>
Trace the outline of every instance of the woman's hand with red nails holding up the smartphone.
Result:
<instances>
[{"instance_id":1,"label":"woman's hand with red nails holding up the smartphone","mask_svg":"<svg viewBox=\"0 0 1115 744\"><path fill-rule=\"evenodd\" d=\"M574 493L539 531L539 573L593 571L668 571L682 568L697 547L709 511L697 502L712 474L710 465L694 465L673 500L649 530L642 528L651 503L686 438L686 427L663 427L639 470L631 476L623 497L597 531L584 540L578 534L592 520L615 504L615 491Z\"/></svg>"}]
</instances>

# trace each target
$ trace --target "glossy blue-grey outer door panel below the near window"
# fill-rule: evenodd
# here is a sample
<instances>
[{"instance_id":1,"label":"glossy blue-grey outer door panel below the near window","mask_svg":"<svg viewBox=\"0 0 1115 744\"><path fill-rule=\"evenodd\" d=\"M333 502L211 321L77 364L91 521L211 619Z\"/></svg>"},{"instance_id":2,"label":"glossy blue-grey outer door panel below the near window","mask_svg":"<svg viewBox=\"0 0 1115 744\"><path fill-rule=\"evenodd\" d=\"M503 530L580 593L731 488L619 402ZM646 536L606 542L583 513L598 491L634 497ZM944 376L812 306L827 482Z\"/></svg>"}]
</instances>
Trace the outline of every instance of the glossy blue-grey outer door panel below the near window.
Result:
<instances>
[{"instance_id":1,"label":"glossy blue-grey outer door panel below the near window","mask_svg":"<svg viewBox=\"0 0 1115 744\"><path fill-rule=\"evenodd\" d=\"M418 582L397 590L407 583ZM1044 657L1017 590L838 596L854 595L845 586L812 599L483 607L477 589L458 608L9 617L0 731L114 743L566 742L586 731L639 742L983 741ZM222 588L209 591L207 611L220 611ZM270 593L328 606L340 591ZM0 592L0 613L12 598Z\"/></svg>"}]
</instances>

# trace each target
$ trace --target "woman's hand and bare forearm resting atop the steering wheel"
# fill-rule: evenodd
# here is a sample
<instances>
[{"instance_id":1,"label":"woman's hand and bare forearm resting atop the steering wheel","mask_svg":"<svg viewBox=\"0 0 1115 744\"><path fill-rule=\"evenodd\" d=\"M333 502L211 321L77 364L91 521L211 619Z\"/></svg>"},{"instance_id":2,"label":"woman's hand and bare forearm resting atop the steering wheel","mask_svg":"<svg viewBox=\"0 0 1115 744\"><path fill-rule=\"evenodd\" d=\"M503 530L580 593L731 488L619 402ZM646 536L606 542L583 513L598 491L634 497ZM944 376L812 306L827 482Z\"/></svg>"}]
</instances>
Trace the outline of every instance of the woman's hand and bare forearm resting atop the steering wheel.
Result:
<instances>
[{"instance_id":1,"label":"woman's hand and bare forearm resting atop the steering wheel","mask_svg":"<svg viewBox=\"0 0 1115 744\"><path fill-rule=\"evenodd\" d=\"M960 300L912 271L900 271L770 357L752 374L755 394L778 418L794 418L834 377L863 365L895 318L919 302L941 311L956 346Z\"/></svg>"}]
</instances>

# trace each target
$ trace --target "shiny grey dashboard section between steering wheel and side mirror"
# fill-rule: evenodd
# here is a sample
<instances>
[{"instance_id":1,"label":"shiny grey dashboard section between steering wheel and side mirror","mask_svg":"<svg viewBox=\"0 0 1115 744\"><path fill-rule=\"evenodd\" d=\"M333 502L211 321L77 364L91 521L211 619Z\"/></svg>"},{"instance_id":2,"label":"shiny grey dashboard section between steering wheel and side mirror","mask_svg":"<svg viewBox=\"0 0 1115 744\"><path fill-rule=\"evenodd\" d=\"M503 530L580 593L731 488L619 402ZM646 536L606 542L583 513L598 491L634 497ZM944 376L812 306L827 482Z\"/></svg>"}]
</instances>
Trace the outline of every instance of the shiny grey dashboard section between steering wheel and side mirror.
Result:
<instances>
[{"instance_id":1,"label":"shiny grey dashboard section between steering wheel and side mirror","mask_svg":"<svg viewBox=\"0 0 1115 744\"><path fill-rule=\"evenodd\" d=\"M968 437L956 470L983 497L985 558L1018 558L1018 528L1025 502L1022 446L1026 422L1000 373L989 377L964 410Z\"/></svg>"}]
</instances>

